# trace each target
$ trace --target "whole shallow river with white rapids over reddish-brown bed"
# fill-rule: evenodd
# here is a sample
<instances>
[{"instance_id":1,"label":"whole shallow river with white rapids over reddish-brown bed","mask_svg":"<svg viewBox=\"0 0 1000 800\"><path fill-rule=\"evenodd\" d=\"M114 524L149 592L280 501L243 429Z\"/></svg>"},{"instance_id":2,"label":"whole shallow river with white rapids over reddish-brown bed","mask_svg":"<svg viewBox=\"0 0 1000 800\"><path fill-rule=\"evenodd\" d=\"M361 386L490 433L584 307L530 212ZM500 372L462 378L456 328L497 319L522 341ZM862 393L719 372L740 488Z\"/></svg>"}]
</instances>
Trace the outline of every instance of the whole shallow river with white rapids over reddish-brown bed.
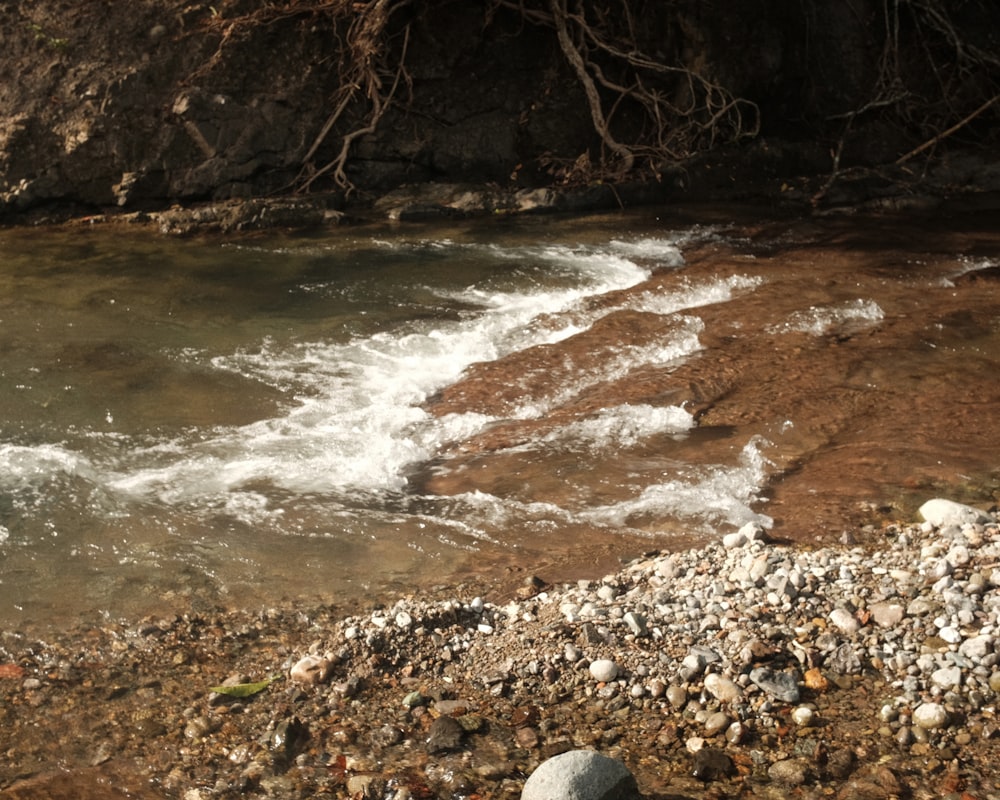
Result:
<instances>
[{"instance_id":1,"label":"whole shallow river with white rapids over reddish-brown bed","mask_svg":"<svg viewBox=\"0 0 1000 800\"><path fill-rule=\"evenodd\" d=\"M0 232L0 628L988 505L995 223Z\"/></svg>"}]
</instances>

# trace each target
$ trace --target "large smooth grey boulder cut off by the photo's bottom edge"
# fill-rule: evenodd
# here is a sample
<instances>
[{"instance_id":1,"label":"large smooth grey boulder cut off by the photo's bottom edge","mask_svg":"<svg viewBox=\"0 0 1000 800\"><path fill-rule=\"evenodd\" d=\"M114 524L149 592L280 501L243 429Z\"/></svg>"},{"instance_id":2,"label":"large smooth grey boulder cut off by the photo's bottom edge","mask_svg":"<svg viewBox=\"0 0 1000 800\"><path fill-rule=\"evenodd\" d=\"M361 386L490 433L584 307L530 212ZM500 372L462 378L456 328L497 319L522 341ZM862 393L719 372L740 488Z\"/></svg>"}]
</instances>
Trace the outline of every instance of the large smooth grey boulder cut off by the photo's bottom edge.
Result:
<instances>
[{"instance_id":1,"label":"large smooth grey boulder cut off by the photo's bottom edge","mask_svg":"<svg viewBox=\"0 0 1000 800\"><path fill-rule=\"evenodd\" d=\"M536 769L521 800L639 800L635 777L617 759L593 750L570 750Z\"/></svg>"}]
</instances>

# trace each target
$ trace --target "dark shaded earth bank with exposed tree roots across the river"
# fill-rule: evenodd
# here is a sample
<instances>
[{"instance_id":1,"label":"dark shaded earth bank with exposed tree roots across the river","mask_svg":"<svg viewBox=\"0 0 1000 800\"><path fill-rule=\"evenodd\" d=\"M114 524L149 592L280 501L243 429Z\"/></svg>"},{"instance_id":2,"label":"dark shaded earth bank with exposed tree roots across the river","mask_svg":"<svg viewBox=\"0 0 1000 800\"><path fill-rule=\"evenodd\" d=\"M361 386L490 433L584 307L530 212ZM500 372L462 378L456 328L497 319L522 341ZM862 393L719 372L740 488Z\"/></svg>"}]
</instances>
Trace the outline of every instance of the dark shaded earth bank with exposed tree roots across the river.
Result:
<instances>
[{"instance_id":1,"label":"dark shaded earth bank with exposed tree roots across the river","mask_svg":"<svg viewBox=\"0 0 1000 800\"><path fill-rule=\"evenodd\" d=\"M725 6L8 3L0 219L309 196L271 224L315 224L429 183L572 189L560 208L1000 185L996 9Z\"/></svg>"}]
</instances>

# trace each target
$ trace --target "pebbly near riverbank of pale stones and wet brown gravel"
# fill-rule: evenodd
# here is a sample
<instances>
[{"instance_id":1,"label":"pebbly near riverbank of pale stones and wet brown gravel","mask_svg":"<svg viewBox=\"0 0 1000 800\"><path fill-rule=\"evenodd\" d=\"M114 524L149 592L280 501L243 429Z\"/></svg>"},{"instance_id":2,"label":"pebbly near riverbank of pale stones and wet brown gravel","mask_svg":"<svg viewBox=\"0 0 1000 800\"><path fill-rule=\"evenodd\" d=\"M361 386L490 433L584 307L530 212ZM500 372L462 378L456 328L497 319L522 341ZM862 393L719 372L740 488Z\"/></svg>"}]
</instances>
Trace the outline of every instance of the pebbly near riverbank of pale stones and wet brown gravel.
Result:
<instances>
[{"instance_id":1,"label":"pebbly near riverbank of pale stones and wet brown gravel","mask_svg":"<svg viewBox=\"0 0 1000 800\"><path fill-rule=\"evenodd\" d=\"M953 510L489 600L6 632L0 797L514 798L579 748L651 798L1000 796L1000 525Z\"/></svg>"}]
</instances>

